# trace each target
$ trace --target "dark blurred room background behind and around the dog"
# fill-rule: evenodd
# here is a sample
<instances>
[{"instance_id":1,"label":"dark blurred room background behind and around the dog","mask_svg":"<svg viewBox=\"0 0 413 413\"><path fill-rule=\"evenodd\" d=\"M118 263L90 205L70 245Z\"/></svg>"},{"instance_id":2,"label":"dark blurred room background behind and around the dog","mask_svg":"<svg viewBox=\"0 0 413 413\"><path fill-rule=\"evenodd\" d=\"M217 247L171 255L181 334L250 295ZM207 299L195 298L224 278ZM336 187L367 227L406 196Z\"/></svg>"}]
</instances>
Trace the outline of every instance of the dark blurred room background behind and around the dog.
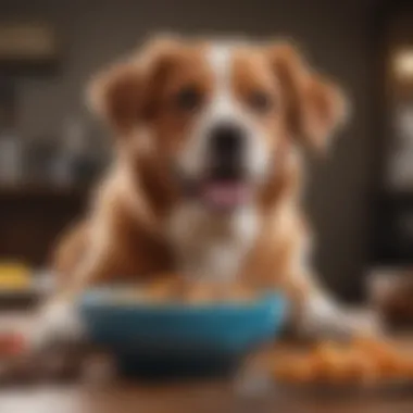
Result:
<instances>
[{"instance_id":1,"label":"dark blurred room background behind and around the dog","mask_svg":"<svg viewBox=\"0 0 413 413\"><path fill-rule=\"evenodd\" d=\"M328 157L310 157L315 266L347 299L362 297L365 274L409 270L413 1L0 0L4 297L27 292L22 274L33 283L47 270L55 237L109 162L110 138L84 103L88 79L159 32L290 37L337 78L353 115Z\"/></svg>"}]
</instances>

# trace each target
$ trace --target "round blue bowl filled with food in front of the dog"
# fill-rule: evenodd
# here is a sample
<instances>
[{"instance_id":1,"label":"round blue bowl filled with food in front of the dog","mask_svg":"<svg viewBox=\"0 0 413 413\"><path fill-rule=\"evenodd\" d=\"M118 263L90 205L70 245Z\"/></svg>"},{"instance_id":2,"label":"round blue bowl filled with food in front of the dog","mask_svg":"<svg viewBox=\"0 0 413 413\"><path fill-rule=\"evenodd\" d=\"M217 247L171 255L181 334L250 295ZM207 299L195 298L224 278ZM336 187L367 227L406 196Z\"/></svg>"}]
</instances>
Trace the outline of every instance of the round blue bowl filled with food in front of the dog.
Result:
<instances>
[{"instance_id":1,"label":"round blue bowl filled with food in front of the dog","mask_svg":"<svg viewBox=\"0 0 413 413\"><path fill-rule=\"evenodd\" d=\"M113 291L85 295L80 313L92 342L111 350L124 374L229 373L284 326L287 300L185 304L117 303Z\"/></svg>"}]
</instances>

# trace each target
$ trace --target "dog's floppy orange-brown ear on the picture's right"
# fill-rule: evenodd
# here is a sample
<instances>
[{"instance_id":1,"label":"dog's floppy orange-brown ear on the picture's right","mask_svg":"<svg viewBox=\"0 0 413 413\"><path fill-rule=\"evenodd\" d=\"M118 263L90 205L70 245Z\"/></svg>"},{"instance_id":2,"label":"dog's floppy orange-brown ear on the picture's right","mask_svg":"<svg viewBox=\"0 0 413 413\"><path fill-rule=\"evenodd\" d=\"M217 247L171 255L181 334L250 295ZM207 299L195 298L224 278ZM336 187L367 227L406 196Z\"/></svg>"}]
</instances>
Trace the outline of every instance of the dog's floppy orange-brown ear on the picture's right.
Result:
<instances>
[{"instance_id":1,"label":"dog's floppy orange-brown ear on the picture's right","mask_svg":"<svg viewBox=\"0 0 413 413\"><path fill-rule=\"evenodd\" d=\"M267 49L281 90L288 132L323 149L346 122L349 108L337 85L315 73L290 43Z\"/></svg>"}]
</instances>

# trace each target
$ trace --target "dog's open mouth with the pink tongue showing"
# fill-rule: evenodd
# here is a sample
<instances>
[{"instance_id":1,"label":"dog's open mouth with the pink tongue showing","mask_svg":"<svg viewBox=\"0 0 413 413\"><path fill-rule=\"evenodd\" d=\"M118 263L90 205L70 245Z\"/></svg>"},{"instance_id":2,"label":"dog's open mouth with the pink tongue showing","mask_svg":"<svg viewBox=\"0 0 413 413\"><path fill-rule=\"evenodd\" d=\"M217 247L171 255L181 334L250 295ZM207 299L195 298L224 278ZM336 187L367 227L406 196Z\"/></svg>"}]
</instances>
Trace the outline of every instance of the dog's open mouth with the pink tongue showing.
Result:
<instances>
[{"instance_id":1,"label":"dog's open mouth with the pink tongue showing","mask_svg":"<svg viewBox=\"0 0 413 413\"><path fill-rule=\"evenodd\" d=\"M251 188L241 179L209 179L200 185L198 197L214 210L231 211L249 201Z\"/></svg>"}]
</instances>

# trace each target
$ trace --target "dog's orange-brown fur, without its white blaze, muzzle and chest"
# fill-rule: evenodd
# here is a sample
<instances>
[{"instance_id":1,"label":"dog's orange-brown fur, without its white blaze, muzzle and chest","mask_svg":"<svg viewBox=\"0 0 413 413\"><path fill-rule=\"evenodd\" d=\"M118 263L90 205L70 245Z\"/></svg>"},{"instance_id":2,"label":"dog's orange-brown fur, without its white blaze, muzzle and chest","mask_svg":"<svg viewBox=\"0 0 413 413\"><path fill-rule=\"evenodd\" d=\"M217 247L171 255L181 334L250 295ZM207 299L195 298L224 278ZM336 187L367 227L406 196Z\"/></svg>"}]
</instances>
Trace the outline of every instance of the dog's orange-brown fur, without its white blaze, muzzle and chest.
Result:
<instances>
[{"instance_id":1,"label":"dog's orange-brown fur, without its white blaze, muzzle and chest","mask_svg":"<svg viewBox=\"0 0 413 413\"><path fill-rule=\"evenodd\" d=\"M152 277L177 271L165 236L167 216L180 201L165 159L178 151L191 117L170 108L170 97L186 83L205 99L213 77L203 41L162 40L114 65L93 80L92 109L117 136L117 159L93 196L91 211L63 237L54 267L62 291L116 277ZM240 46L231 87L239 101L261 87L276 99L260 120L268 151L278 150L272 175L255 200L259 235L241 264L240 277L281 286L295 298L316 289L305 260L311 235L300 210L302 160L299 146L324 148L346 116L340 90L315 73L292 46ZM155 132L138 142L137 120ZM157 139L153 150L151 139Z\"/></svg>"}]
</instances>

